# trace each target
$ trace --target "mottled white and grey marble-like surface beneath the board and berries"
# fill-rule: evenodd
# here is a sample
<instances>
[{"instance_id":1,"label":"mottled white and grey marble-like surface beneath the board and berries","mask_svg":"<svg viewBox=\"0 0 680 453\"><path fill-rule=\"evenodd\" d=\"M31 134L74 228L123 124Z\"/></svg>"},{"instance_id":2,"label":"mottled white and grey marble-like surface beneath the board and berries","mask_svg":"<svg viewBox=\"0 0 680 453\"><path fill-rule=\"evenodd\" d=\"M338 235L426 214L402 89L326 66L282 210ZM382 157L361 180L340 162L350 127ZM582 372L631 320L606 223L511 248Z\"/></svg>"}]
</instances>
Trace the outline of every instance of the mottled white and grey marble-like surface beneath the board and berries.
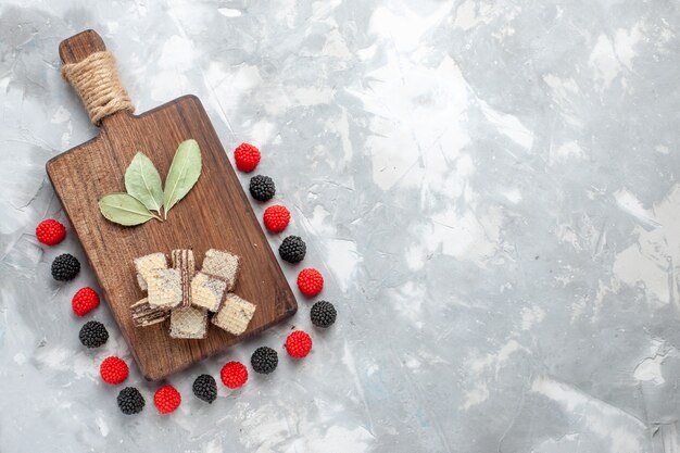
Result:
<instances>
[{"instance_id":1,"label":"mottled white and grey marble-like surface beneath the board and berries","mask_svg":"<svg viewBox=\"0 0 680 453\"><path fill-rule=\"evenodd\" d=\"M676 0L3 0L0 451L680 451L679 21ZM91 272L49 277L78 242L33 234L64 219L46 161L97 133L56 53L89 27L138 112L196 93L225 148L261 147L340 313L319 332L301 300L172 377L166 417L135 367L148 406L117 411L98 364L127 347L102 306L112 338L84 351L70 309ZM292 325L306 360L191 395Z\"/></svg>"}]
</instances>

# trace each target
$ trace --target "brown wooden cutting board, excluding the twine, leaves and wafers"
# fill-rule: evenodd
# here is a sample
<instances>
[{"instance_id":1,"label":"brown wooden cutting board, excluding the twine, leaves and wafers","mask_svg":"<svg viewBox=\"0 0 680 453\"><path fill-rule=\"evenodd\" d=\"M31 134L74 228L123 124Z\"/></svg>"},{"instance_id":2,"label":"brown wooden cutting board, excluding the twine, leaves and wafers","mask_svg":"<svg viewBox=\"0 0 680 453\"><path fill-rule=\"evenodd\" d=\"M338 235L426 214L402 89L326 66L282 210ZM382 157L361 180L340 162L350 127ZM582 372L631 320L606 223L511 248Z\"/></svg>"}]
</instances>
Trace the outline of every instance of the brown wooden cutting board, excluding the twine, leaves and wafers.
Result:
<instances>
[{"instance_id":1,"label":"brown wooden cutting board, excluding the twine, leaves and wafers","mask_svg":"<svg viewBox=\"0 0 680 453\"><path fill-rule=\"evenodd\" d=\"M64 63L76 63L105 50L92 30L60 45ZM187 139L200 146L203 168L193 189L164 223L149 221L123 227L101 215L98 200L125 191L125 169L138 151L167 175L177 146ZM117 112L102 119L99 135L47 164L54 190L78 236L130 351L147 379L162 379L223 351L293 315L298 304L267 243L225 150L201 101L185 96L141 115ZM210 324L204 340L176 340L168 322L133 326L129 305L146 297L136 280L133 260L153 252L192 248L200 268L207 249L241 257L237 294L257 306L245 334L235 337ZM111 326L109 326L111 327Z\"/></svg>"}]
</instances>

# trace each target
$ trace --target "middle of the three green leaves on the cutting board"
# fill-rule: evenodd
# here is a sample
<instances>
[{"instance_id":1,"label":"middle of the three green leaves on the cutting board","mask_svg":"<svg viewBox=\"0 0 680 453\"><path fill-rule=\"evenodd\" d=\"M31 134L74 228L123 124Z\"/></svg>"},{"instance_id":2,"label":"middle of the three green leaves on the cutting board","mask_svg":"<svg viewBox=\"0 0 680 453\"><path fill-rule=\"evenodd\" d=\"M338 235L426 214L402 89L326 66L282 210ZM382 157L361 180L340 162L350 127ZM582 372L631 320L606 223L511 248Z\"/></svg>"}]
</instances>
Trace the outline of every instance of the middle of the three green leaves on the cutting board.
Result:
<instances>
[{"instance_id":1,"label":"middle of the three green leaves on the cutting board","mask_svg":"<svg viewBox=\"0 0 680 453\"><path fill-rule=\"evenodd\" d=\"M161 213L163 206L161 175L146 154L141 152L135 154L135 159L125 171L125 189L149 211Z\"/></svg>"}]
</instances>

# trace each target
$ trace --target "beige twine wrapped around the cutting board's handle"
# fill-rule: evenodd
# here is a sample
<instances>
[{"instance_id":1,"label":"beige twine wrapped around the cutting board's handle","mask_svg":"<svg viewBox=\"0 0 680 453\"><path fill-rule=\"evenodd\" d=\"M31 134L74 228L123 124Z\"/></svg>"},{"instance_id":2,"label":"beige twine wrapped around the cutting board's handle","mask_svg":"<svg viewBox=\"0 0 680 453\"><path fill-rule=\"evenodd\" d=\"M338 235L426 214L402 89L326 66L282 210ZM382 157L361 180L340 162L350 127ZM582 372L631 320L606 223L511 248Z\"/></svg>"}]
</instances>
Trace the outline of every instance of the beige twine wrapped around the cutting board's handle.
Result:
<instances>
[{"instance_id":1,"label":"beige twine wrapped around the cutting board's handle","mask_svg":"<svg viewBox=\"0 0 680 453\"><path fill-rule=\"evenodd\" d=\"M111 52L95 52L78 63L64 64L62 76L73 85L96 126L121 110L135 111Z\"/></svg>"}]
</instances>

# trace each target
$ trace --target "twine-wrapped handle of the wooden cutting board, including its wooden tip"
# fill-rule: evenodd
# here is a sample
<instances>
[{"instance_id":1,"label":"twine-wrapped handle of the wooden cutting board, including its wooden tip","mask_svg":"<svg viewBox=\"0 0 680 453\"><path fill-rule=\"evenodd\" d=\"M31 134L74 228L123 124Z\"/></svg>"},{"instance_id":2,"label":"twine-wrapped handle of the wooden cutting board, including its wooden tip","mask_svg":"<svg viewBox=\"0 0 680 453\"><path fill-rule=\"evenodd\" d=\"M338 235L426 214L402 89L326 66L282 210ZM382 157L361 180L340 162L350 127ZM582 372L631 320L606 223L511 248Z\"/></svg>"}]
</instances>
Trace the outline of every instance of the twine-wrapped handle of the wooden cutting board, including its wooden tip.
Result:
<instances>
[{"instance_id":1,"label":"twine-wrapped handle of the wooden cutting board, including its wooden tip","mask_svg":"<svg viewBox=\"0 0 680 453\"><path fill-rule=\"evenodd\" d=\"M88 29L59 45L64 66L62 75L74 87L96 126L119 112L134 112L135 106L121 84L115 60L106 51L101 36Z\"/></svg>"}]
</instances>

